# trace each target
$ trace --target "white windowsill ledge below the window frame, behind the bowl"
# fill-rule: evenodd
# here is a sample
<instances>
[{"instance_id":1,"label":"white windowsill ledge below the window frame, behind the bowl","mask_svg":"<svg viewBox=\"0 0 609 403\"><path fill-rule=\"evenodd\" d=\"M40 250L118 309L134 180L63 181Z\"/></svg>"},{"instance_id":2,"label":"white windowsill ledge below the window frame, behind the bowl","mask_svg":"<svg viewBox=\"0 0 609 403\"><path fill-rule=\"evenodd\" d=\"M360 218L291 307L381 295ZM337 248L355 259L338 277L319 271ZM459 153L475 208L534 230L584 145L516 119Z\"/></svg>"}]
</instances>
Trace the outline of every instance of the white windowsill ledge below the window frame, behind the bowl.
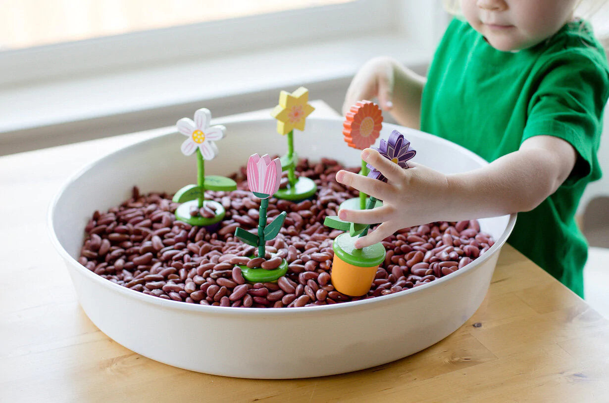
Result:
<instances>
[{"instance_id":1,"label":"white windowsill ledge below the window frame, behind the bowl","mask_svg":"<svg viewBox=\"0 0 609 403\"><path fill-rule=\"evenodd\" d=\"M85 140L102 137L103 133L95 133L100 125L107 125L107 135L171 125L191 115L192 104L200 108L209 107L206 102L223 105L220 100L230 100L234 107L212 109L216 116L275 105L279 94L264 94L261 100L264 91L294 91L306 85L311 98L324 98L319 91L330 89L328 83L340 82L344 87L366 60L377 55L424 69L433 48L422 42L389 34L362 36L2 89L0 148L5 152L0 154L12 152L11 148L19 151L24 142L57 145L48 137L67 136L72 126ZM318 93L314 88L319 88ZM342 98L344 92L336 95ZM264 105L252 105L255 102ZM113 126L119 133L110 129ZM68 136L63 142L71 141L74 138Z\"/></svg>"}]
</instances>

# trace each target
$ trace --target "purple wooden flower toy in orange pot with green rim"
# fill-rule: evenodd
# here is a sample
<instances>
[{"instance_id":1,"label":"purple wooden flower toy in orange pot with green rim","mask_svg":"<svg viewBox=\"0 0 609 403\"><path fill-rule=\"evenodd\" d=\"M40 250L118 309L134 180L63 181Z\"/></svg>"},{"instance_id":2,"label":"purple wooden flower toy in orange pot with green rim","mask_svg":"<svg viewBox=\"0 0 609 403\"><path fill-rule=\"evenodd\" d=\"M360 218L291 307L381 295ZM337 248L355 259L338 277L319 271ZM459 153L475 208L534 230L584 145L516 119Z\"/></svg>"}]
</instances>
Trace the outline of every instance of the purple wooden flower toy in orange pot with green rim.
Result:
<instances>
[{"instance_id":1,"label":"purple wooden flower toy in orange pot with green rim","mask_svg":"<svg viewBox=\"0 0 609 403\"><path fill-rule=\"evenodd\" d=\"M410 142L396 130L392 131L387 141L381 140L377 149L385 158L398 164L401 168L408 168L406 161L415 156L417 151L410 147ZM387 182L387 178L370 167L368 177ZM373 208L376 198L370 196L366 209ZM385 260L385 248L381 243L376 243L362 249L356 249L354 243L359 236L365 236L370 228L369 224L355 224L345 222L337 216L328 216L323 222L325 226L348 231L340 234L334 239L334 260L332 262L331 278L334 288L346 295L353 297L364 295L370 290L372 281L375 279L376 269Z\"/></svg>"}]
</instances>

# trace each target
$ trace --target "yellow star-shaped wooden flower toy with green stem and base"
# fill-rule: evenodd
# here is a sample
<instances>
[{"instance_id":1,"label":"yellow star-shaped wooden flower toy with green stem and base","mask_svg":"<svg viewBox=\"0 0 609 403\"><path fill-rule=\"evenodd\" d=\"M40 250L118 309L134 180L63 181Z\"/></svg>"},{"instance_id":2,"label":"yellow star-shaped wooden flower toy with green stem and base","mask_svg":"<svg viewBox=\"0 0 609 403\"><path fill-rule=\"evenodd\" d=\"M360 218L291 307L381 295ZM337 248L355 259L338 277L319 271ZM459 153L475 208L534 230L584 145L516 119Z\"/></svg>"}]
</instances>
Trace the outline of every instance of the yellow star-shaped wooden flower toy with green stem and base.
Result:
<instances>
[{"instance_id":1,"label":"yellow star-shaped wooden flower toy with green stem and base","mask_svg":"<svg viewBox=\"0 0 609 403\"><path fill-rule=\"evenodd\" d=\"M292 201L308 199L317 191L317 185L308 177L296 177L295 168L298 164L298 155L294 151L294 129L305 130L306 117L314 111L308 103L309 90L300 87L290 94L281 91L279 105L275 106L271 115L277 119L277 131L287 135L287 154L281 157L281 167L287 170L288 184L280 188L275 197Z\"/></svg>"}]
</instances>

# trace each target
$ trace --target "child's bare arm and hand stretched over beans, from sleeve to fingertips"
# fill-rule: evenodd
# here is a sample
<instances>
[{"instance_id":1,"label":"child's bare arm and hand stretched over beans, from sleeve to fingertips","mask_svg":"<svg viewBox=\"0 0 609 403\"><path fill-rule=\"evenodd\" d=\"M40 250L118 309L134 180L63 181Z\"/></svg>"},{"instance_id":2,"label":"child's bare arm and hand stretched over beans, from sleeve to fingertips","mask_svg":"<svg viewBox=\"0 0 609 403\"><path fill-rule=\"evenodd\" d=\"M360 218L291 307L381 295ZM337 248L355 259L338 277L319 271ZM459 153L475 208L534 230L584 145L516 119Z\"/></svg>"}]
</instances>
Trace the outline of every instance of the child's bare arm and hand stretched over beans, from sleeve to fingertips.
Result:
<instances>
[{"instance_id":1,"label":"child's bare arm and hand stretched over beans, from sleeve to fingertips","mask_svg":"<svg viewBox=\"0 0 609 403\"><path fill-rule=\"evenodd\" d=\"M404 170L367 148L362 159L381 171L388 182L348 171L337 172L336 180L375 196L383 205L372 210L340 210L339 217L364 224L382 222L356 241L356 247L365 247L406 227L526 212L565 181L576 155L563 139L535 136L525 140L518 151L485 167L446 175L412 162Z\"/></svg>"}]
</instances>

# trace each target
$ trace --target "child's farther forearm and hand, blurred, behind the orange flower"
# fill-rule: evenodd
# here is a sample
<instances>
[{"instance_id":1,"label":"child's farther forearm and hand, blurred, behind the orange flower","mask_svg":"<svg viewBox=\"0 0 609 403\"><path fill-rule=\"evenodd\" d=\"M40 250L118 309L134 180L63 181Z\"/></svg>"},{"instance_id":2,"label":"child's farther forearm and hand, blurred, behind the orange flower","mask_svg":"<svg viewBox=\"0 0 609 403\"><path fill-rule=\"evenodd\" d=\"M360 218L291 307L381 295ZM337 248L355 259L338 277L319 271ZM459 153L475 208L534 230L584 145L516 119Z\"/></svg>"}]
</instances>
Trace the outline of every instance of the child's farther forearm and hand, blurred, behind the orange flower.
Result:
<instances>
[{"instance_id":1,"label":"child's farther forearm and hand, blurred, behind the orange flower","mask_svg":"<svg viewBox=\"0 0 609 403\"><path fill-rule=\"evenodd\" d=\"M418 129L421 126L421 94L425 77L406 69L388 57L374 58L357 72L345 95L343 114L360 100L378 98L400 125Z\"/></svg>"}]
</instances>

